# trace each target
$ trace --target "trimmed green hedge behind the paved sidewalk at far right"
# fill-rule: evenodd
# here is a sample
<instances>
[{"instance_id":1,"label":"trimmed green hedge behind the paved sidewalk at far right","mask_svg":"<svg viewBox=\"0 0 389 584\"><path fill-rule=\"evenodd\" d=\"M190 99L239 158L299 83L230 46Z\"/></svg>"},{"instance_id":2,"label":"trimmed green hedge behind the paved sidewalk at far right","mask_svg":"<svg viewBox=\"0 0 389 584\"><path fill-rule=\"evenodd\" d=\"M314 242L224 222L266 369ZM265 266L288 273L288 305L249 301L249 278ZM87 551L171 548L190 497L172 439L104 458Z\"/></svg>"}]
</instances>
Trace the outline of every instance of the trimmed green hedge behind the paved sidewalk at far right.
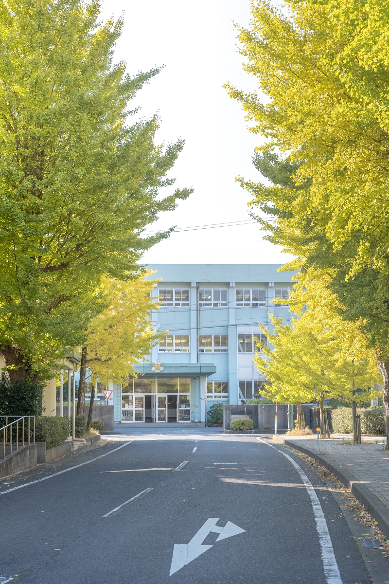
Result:
<instances>
[{"instance_id":1,"label":"trimmed green hedge behind the paved sidewalk at far right","mask_svg":"<svg viewBox=\"0 0 389 584\"><path fill-rule=\"evenodd\" d=\"M360 414L361 434L370 436L386 434L385 408L357 408ZM331 412L332 429L337 434L352 434L352 408L336 408Z\"/></svg>"}]
</instances>

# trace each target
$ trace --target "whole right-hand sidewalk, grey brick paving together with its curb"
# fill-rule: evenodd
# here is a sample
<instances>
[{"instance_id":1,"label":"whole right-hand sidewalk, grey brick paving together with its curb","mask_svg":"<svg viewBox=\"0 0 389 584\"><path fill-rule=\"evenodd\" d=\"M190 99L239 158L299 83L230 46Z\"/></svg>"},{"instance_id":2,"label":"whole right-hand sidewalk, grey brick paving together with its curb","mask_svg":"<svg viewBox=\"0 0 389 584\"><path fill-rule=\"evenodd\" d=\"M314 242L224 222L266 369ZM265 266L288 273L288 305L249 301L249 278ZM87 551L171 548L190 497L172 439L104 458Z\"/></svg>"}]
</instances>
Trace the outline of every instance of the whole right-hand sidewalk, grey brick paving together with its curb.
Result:
<instances>
[{"instance_id":1,"label":"whole right-hand sidewalk, grey brick paving together with its curb","mask_svg":"<svg viewBox=\"0 0 389 584\"><path fill-rule=\"evenodd\" d=\"M389 451L383 449L383 438L377 444L344 444L343 440L320 440L317 436L273 436L273 440L290 446L328 468L372 513L381 531L389 538Z\"/></svg>"}]
</instances>

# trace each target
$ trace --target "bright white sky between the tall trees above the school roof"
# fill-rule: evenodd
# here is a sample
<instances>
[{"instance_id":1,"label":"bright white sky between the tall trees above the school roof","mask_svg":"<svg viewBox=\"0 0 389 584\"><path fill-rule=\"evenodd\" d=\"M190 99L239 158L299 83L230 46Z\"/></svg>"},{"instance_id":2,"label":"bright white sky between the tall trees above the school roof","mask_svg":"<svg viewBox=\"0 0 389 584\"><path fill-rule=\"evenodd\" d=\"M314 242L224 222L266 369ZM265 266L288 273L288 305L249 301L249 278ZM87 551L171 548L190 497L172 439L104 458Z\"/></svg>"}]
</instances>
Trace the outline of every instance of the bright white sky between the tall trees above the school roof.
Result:
<instances>
[{"instance_id":1,"label":"bright white sky between the tall trees above the school roof","mask_svg":"<svg viewBox=\"0 0 389 584\"><path fill-rule=\"evenodd\" d=\"M237 175L258 180L251 157L261 137L248 132L239 103L227 81L245 90L255 81L241 69L233 22L247 25L249 0L103 0L103 18L124 12L125 26L115 60L135 74L154 65L165 68L139 92L131 107L141 116L159 112L159 142L185 139L169 176L174 187L194 194L172 213L163 213L150 230L248 220L248 193ZM149 263L273 263L289 255L263 241L257 224L170 236L143 257Z\"/></svg>"}]
</instances>

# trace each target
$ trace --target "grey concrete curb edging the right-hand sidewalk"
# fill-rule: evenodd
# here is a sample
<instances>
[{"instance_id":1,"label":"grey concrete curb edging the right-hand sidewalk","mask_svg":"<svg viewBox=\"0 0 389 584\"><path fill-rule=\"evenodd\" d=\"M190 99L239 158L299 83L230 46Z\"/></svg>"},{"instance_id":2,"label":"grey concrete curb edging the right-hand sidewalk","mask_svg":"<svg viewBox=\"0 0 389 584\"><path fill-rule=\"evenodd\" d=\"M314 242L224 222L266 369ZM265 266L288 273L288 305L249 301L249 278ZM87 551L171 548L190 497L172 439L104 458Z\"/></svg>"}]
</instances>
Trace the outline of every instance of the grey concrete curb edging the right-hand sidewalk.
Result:
<instances>
[{"instance_id":1,"label":"grey concrete curb edging the right-hand sidewalk","mask_svg":"<svg viewBox=\"0 0 389 584\"><path fill-rule=\"evenodd\" d=\"M374 517L378 522L380 530L383 532L386 538L389 538L389 509L380 499L374 495L361 481L358 481L350 472L345 471L343 468L335 467L325 456L317 454L313 450L300 446L292 442L292 440L285 440L280 438L279 440L274 440L278 444L285 444L285 446L290 446L295 450L299 450L303 454L306 454L310 458L317 460L323 467L327 468L332 474L335 475L341 481L345 487L359 500L360 503L365 507L365 509Z\"/></svg>"}]
</instances>

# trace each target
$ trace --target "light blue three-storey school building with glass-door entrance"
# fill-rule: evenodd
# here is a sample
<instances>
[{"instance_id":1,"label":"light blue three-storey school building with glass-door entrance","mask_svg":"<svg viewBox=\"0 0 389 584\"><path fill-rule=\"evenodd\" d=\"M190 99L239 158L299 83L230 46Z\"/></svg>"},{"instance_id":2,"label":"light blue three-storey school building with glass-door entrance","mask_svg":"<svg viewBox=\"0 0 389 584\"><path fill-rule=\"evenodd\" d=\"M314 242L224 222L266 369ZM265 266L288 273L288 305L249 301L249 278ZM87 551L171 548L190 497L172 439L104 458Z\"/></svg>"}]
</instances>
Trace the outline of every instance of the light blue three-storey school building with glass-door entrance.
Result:
<instances>
[{"instance_id":1,"label":"light blue three-storey school building with glass-door entrance","mask_svg":"<svg viewBox=\"0 0 389 584\"><path fill-rule=\"evenodd\" d=\"M159 345L136 370L137 379L113 385L115 422L202 423L215 403L237 404L261 394L265 377L253 361L259 324L271 314L290 320L293 272L281 264L150 264L161 279L152 296Z\"/></svg>"}]
</instances>

